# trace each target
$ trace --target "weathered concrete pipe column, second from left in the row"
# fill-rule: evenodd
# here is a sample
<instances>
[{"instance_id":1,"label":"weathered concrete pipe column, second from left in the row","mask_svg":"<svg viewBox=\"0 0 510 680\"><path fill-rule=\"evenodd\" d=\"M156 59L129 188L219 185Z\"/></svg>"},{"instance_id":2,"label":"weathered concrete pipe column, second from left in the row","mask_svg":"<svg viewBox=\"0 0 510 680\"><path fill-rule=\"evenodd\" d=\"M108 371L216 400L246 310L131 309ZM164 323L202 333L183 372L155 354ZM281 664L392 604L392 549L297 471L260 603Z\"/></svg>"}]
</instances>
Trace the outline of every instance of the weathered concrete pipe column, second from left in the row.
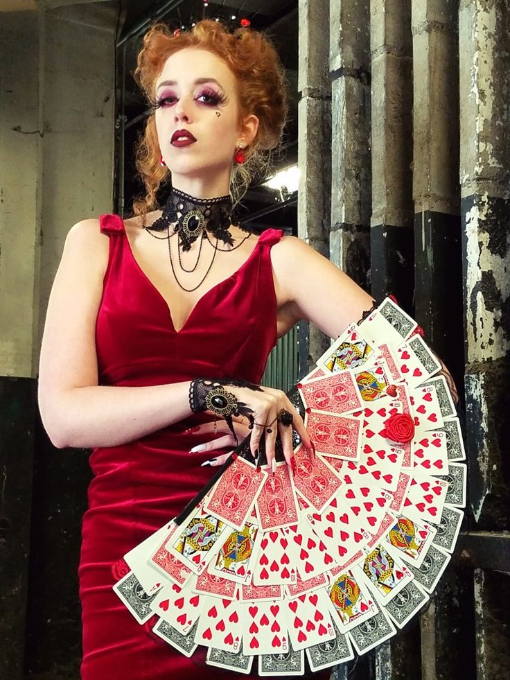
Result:
<instances>
[{"instance_id":1,"label":"weathered concrete pipe column, second from left in the row","mask_svg":"<svg viewBox=\"0 0 510 680\"><path fill-rule=\"evenodd\" d=\"M329 256L370 290L370 3L331 0Z\"/></svg>"}]
</instances>

